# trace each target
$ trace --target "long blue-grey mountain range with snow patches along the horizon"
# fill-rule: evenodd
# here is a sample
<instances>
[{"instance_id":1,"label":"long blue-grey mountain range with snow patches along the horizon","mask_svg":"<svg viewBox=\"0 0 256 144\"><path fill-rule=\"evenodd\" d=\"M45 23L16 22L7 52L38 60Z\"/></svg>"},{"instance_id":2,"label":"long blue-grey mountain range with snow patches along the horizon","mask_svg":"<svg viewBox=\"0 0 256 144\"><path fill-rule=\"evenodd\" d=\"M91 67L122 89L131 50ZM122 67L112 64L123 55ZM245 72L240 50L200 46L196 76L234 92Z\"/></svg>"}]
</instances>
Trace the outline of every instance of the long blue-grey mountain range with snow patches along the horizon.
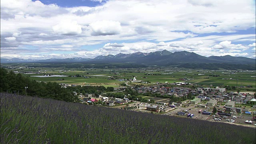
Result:
<instances>
[{"instance_id":1,"label":"long blue-grey mountain range with snow patches along the horizon","mask_svg":"<svg viewBox=\"0 0 256 144\"><path fill-rule=\"evenodd\" d=\"M256 64L253 58L236 57L236 56L210 56L205 57L194 52L169 52L168 50L157 52L136 52L132 54L109 54L107 56L97 56L95 58L51 58L46 60L32 60L32 59L0 59L1 63L19 63L19 62L112 62L112 63L138 63L148 65L168 65L174 63L230 63L230 64Z\"/></svg>"}]
</instances>

